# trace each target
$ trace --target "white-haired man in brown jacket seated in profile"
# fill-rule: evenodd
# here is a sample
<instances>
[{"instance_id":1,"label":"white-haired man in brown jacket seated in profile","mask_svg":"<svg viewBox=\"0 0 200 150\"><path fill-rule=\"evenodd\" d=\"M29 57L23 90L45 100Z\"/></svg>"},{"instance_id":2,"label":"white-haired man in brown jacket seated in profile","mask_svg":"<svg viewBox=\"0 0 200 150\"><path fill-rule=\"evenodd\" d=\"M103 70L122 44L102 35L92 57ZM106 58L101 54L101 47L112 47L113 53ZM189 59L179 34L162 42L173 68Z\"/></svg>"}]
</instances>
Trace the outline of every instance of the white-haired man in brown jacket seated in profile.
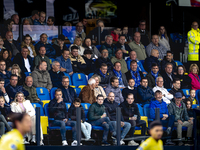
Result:
<instances>
[{"instance_id":1,"label":"white-haired man in brown jacket seated in profile","mask_svg":"<svg viewBox=\"0 0 200 150\"><path fill-rule=\"evenodd\" d=\"M96 102L96 98L94 96L95 86L96 86L96 80L90 78L88 80L88 85L86 85L79 94L79 98L81 99L82 103L93 104Z\"/></svg>"}]
</instances>

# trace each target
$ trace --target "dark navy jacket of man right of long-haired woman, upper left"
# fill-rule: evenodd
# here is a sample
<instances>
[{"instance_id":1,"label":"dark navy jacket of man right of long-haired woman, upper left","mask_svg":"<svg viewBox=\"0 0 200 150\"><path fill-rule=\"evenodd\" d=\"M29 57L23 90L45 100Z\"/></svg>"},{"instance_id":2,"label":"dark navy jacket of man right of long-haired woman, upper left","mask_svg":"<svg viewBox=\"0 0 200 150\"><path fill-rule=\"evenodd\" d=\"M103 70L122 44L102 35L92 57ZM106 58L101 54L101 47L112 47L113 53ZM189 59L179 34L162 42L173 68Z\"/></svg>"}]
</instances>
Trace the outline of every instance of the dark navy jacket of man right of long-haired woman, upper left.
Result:
<instances>
[{"instance_id":1,"label":"dark navy jacket of man right of long-haired woman, upper left","mask_svg":"<svg viewBox=\"0 0 200 150\"><path fill-rule=\"evenodd\" d=\"M41 46L45 46L46 48L46 56L49 58L55 58L56 57L56 50L53 48L53 46L50 43L42 43L41 41L39 41L36 45L35 45L35 50L37 55L39 54L39 50Z\"/></svg>"}]
</instances>

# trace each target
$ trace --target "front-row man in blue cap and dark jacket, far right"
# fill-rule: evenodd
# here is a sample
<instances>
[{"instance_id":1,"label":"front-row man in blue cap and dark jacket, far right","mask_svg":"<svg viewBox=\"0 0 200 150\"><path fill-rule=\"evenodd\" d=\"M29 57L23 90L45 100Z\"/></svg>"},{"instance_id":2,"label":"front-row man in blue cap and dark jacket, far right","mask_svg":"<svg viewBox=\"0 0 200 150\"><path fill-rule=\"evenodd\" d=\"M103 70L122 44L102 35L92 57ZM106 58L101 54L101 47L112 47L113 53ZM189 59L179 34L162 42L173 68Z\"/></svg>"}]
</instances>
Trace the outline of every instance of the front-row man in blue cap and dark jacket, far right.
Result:
<instances>
[{"instance_id":1,"label":"front-row man in blue cap and dark jacket, far right","mask_svg":"<svg viewBox=\"0 0 200 150\"><path fill-rule=\"evenodd\" d=\"M183 95L180 92L177 92L174 96L174 100L168 105L169 115L175 116L175 126L177 126L177 138L180 139L178 145L182 146L184 143L182 139L182 127L187 127L187 138L188 140L192 139L192 130L193 123L190 120L187 108L182 101Z\"/></svg>"}]
</instances>

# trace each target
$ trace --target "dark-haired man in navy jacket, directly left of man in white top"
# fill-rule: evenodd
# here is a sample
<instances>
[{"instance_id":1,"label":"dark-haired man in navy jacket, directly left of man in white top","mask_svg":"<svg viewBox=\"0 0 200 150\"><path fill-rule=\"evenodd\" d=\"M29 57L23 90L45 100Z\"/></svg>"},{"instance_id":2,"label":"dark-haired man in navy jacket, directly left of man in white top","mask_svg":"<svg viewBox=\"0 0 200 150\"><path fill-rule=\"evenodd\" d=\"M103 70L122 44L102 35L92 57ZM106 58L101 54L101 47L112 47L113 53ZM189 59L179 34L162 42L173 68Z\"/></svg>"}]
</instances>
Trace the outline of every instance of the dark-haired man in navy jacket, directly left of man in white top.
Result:
<instances>
[{"instance_id":1,"label":"dark-haired man in navy jacket, directly left of man in white top","mask_svg":"<svg viewBox=\"0 0 200 150\"><path fill-rule=\"evenodd\" d=\"M148 79L146 77L141 79L140 85L137 88L137 93L138 101L136 101L136 103L139 103L142 106L149 104L154 97L152 89L148 87Z\"/></svg>"}]
</instances>

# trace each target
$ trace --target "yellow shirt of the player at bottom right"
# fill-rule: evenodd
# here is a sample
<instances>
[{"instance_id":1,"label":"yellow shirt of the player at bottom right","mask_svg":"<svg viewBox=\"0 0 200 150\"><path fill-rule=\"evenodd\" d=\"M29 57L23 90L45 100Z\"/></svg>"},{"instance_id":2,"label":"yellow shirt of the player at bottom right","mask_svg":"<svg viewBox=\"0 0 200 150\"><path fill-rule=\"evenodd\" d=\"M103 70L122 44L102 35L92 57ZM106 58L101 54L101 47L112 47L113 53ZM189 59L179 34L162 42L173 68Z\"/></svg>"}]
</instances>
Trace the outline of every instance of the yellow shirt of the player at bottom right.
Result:
<instances>
[{"instance_id":1,"label":"yellow shirt of the player at bottom right","mask_svg":"<svg viewBox=\"0 0 200 150\"><path fill-rule=\"evenodd\" d=\"M162 140L154 140L152 137L146 139L137 150L163 150Z\"/></svg>"}]
</instances>

